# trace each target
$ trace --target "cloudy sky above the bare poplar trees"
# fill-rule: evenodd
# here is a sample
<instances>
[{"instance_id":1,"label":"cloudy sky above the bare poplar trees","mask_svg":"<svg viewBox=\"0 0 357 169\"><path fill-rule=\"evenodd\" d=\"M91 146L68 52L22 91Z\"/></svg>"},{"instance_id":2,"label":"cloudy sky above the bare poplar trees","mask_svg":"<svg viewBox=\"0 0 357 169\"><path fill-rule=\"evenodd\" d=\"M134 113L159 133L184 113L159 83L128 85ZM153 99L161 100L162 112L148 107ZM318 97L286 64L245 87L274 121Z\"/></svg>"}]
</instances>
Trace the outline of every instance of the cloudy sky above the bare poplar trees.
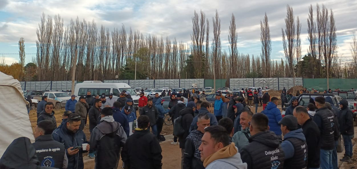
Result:
<instances>
[{"instance_id":1,"label":"cloudy sky above the bare poplar trees","mask_svg":"<svg viewBox=\"0 0 357 169\"><path fill-rule=\"evenodd\" d=\"M54 16L60 14L67 25L71 18L95 20L97 26L104 25L110 31L122 24L128 30L139 30L144 35L155 34L191 43L191 17L193 11L206 13L210 20L212 41L212 17L218 10L221 19L222 49L228 52L228 29L232 13L236 17L238 51L260 55L260 21L267 13L271 39L272 60L280 60L283 54L281 28L285 27L286 5L293 7L295 17L302 23L302 54L307 53L308 7L326 5L335 15L338 53L346 59L351 57L350 42L357 31L356 0L0 0L0 53L18 53L20 37L25 39L25 52L36 53L36 28L42 12ZM6 64L18 62L18 55L0 54ZM35 55L26 55L26 63Z\"/></svg>"}]
</instances>

